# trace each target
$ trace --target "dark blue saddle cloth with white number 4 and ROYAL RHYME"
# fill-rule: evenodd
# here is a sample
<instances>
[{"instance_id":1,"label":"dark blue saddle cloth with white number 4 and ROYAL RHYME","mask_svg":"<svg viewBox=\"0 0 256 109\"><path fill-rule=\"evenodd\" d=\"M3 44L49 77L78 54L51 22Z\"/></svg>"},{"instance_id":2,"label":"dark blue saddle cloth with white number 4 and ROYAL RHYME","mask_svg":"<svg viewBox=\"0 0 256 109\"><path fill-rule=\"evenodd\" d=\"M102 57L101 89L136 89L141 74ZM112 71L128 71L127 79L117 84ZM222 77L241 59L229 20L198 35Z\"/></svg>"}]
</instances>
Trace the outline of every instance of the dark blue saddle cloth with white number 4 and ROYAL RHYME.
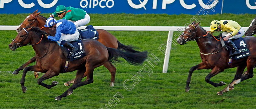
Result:
<instances>
[{"instance_id":1,"label":"dark blue saddle cloth with white number 4 and ROYAL RHYME","mask_svg":"<svg viewBox=\"0 0 256 109\"><path fill-rule=\"evenodd\" d=\"M232 39L232 41L236 45L237 49L239 49L239 51L240 51L240 54L231 56L232 59L237 60L237 59L244 58L244 57L251 55L249 49L247 49L247 45L244 41L244 38L240 37L238 39ZM229 48L229 54L231 54L232 49L230 47L228 47L228 48Z\"/></svg>"}]
</instances>

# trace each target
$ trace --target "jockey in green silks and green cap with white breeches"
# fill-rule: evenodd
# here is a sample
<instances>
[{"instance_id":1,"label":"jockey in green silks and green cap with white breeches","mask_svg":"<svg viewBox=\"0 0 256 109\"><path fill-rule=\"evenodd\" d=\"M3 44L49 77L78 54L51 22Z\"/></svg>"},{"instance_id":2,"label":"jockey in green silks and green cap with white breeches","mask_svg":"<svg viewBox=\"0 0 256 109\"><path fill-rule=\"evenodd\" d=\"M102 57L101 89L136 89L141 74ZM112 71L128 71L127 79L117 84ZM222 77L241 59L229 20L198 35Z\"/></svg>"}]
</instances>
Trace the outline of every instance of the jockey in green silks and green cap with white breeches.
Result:
<instances>
[{"instance_id":1,"label":"jockey in green silks and green cap with white breeches","mask_svg":"<svg viewBox=\"0 0 256 109\"><path fill-rule=\"evenodd\" d=\"M76 28L88 24L91 19L83 9L73 8L71 6L65 7L63 5L57 6L55 12L50 15L50 17L58 16L62 19L74 22Z\"/></svg>"}]
</instances>

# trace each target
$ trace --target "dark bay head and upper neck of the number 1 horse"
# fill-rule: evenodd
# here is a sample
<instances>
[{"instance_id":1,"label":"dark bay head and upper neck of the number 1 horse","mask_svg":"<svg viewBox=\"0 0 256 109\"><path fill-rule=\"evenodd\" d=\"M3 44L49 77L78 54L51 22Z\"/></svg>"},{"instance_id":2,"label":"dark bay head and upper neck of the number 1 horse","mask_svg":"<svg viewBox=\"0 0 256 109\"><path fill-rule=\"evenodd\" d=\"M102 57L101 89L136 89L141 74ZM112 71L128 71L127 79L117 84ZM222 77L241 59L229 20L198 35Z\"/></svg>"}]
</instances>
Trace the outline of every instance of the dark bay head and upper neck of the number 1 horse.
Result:
<instances>
[{"instance_id":1,"label":"dark bay head and upper neck of the number 1 horse","mask_svg":"<svg viewBox=\"0 0 256 109\"><path fill-rule=\"evenodd\" d=\"M36 45L38 43L34 44L34 42L40 42L39 40L42 39L43 37L42 35L47 36L47 33L44 31L41 31L37 27L27 26L17 34L15 39L12 39L12 42L9 44L9 49L14 51L21 46Z\"/></svg>"}]
</instances>

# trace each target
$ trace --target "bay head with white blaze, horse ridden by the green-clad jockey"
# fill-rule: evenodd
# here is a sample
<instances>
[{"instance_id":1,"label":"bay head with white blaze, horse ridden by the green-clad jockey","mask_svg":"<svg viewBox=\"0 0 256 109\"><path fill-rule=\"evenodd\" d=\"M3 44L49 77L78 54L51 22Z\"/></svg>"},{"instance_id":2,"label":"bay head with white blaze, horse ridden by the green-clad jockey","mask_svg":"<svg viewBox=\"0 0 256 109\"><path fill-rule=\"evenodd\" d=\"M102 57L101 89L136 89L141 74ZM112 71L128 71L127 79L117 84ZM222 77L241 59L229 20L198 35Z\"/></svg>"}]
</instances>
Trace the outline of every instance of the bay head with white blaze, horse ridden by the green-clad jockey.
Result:
<instances>
[{"instance_id":1,"label":"bay head with white blaze, horse ridden by the green-clad jockey","mask_svg":"<svg viewBox=\"0 0 256 109\"><path fill-rule=\"evenodd\" d=\"M28 15L27 18L22 23L20 23L20 25L16 28L16 32L20 32L26 26L38 26L39 23L37 21L37 15L39 15L41 12L37 12L37 11L38 10Z\"/></svg>"}]
</instances>

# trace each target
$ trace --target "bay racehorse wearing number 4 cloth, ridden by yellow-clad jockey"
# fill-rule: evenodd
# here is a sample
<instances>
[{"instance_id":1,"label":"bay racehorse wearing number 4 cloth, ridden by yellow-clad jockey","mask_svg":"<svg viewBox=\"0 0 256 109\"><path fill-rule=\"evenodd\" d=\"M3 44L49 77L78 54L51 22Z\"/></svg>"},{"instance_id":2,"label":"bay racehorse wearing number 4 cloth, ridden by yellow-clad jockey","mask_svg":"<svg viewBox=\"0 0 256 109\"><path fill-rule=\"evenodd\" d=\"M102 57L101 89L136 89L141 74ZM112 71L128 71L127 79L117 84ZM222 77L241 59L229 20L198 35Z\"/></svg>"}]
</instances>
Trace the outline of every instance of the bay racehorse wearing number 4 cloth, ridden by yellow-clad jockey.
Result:
<instances>
[{"instance_id":1,"label":"bay racehorse wearing number 4 cloth, ridden by yellow-clad jockey","mask_svg":"<svg viewBox=\"0 0 256 109\"><path fill-rule=\"evenodd\" d=\"M223 92L233 90L235 84L253 77L253 66L256 63L256 37L244 37L245 44L247 45L247 49L250 50L251 56L232 60L230 65L228 65L229 51L222 47L220 41L215 40L214 36L208 34L208 32L199 26L199 22L191 23L176 40L180 45L195 40L200 49L202 62L190 68L186 84L186 92L190 90L189 84L192 73L195 70L211 69L212 71L205 77L205 82L210 83L214 87L218 87L225 85L226 83L223 81L215 83L210 79L218 73L223 72L225 69L237 67L234 79L225 89L217 93L219 95L222 95ZM247 67L248 72L243 74L245 67Z\"/></svg>"}]
</instances>

